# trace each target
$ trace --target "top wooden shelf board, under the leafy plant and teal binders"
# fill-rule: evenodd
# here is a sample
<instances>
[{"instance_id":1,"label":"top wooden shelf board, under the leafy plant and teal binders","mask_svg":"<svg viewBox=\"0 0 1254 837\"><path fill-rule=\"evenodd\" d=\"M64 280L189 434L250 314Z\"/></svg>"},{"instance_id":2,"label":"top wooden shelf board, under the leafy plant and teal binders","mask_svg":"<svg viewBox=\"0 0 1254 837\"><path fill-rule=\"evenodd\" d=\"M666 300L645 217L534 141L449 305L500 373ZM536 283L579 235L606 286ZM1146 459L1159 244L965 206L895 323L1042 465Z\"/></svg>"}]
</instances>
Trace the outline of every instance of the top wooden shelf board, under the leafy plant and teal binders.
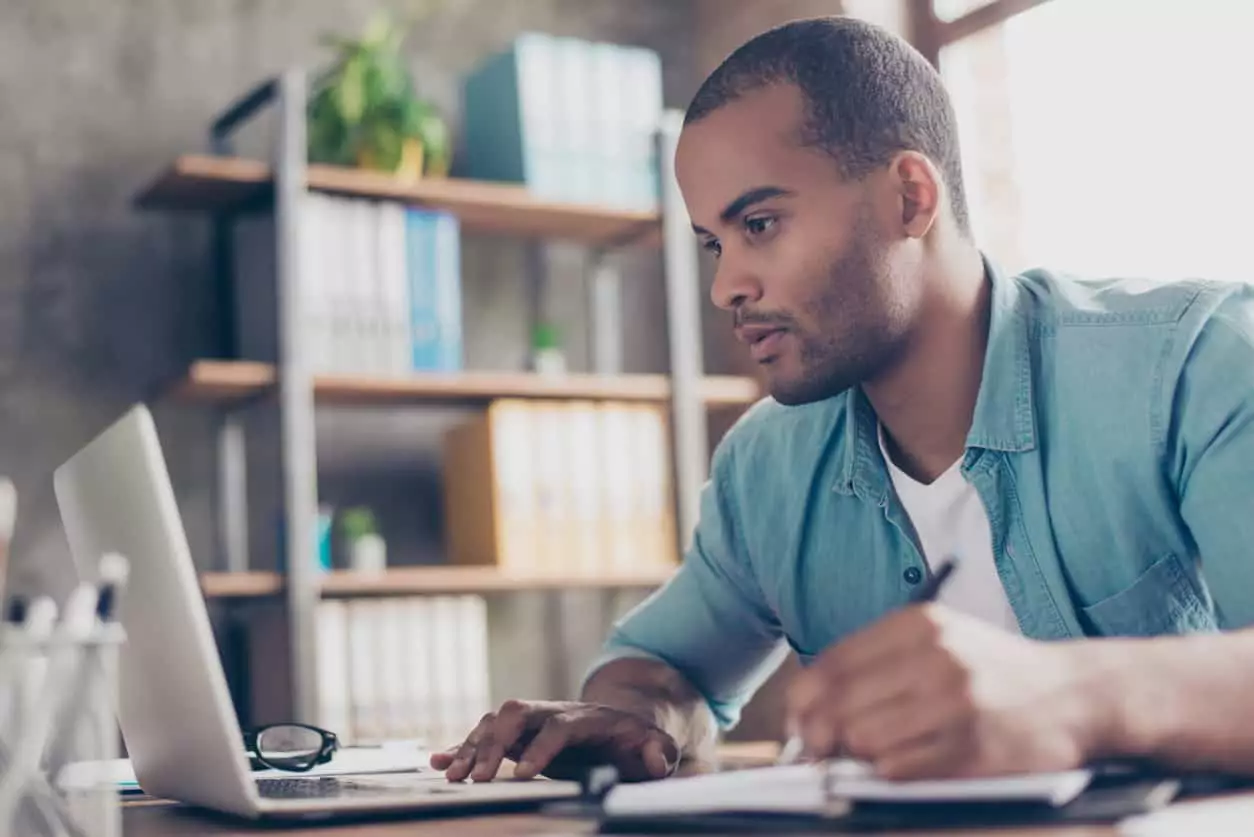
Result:
<instances>
[{"instance_id":1,"label":"top wooden shelf board, under the leafy plant and teal binders","mask_svg":"<svg viewBox=\"0 0 1254 837\"><path fill-rule=\"evenodd\" d=\"M640 241L656 246L656 212L559 203L524 187L461 178L405 181L384 172L310 166L308 187L364 198L394 200L444 210L468 232L567 238L613 246ZM135 205L145 210L224 212L265 202L273 191L270 166L237 157L184 154L145 189Z\"/></svg>"}]
</instances>

